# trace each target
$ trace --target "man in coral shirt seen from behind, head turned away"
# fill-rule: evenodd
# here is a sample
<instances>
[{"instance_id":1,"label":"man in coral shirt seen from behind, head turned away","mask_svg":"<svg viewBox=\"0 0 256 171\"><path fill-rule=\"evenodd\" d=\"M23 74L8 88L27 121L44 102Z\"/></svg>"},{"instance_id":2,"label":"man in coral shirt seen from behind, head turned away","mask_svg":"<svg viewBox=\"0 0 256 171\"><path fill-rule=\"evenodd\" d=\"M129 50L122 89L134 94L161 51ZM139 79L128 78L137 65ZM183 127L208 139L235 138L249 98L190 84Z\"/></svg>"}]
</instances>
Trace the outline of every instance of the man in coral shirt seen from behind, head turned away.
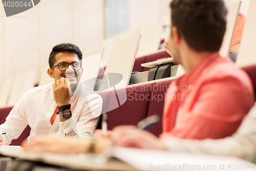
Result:
<instances>
[{"instance_id":1,"label":"man in coral shirt seen from behind, head turned away","mask_svg":"<svg viewBox=\"0 0 256 171\"><path fill-rule=\"evenodd\" d=\"M160 139L231 136L253 106L254 96L248 75L219 54L227 9L217 0L174 0L170 8L171 32L164 48L186 74L167 90ZM113 135L121 146L164 148L160 139L127 126L114 129Z\"/></svg>"}]
</instances>

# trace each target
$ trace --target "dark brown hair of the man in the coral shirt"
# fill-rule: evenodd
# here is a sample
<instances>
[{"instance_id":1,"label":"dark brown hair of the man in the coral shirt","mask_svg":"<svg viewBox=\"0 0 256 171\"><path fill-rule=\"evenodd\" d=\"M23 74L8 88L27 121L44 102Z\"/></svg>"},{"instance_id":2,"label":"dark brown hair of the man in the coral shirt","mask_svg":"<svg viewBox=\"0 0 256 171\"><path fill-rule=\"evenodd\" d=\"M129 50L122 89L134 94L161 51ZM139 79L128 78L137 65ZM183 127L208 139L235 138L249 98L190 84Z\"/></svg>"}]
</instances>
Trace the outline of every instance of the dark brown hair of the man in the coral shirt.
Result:
<instances>
[{"instance_id":1,"label":"dark brown hair of the man in the coral shirt","mask_svg":"<svg viewBox=\"0 0 256 171\"><path fill-rule=\"evenodd\" d=\"M226 31L227 9L222 0L173 0L172 26L196 51L219 51Z\"/></svg>"}]
</instances>

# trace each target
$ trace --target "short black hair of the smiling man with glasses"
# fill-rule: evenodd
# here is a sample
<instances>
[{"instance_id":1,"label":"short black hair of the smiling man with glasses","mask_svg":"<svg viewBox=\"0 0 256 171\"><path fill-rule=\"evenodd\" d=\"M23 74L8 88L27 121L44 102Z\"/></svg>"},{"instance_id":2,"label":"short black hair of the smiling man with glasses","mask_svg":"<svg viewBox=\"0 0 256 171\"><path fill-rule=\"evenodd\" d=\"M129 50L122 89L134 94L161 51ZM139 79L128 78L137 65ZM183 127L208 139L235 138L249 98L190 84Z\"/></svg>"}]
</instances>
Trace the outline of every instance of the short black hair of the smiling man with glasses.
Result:
<instances>
[{"instance_id":1,"label":"short black hair of the smiling man with glasses","mask_svg":"<svg viewBox=\"0 0 256 171\"><path fill-rule=\"evenodd\" d=\"M79 60L82 60L82 52L76 45L71 43L61 43L52 48L48 61L50 68L52 68L55 63L55 55L60 52L76 53Z\"/></svg>"}]
</instances>

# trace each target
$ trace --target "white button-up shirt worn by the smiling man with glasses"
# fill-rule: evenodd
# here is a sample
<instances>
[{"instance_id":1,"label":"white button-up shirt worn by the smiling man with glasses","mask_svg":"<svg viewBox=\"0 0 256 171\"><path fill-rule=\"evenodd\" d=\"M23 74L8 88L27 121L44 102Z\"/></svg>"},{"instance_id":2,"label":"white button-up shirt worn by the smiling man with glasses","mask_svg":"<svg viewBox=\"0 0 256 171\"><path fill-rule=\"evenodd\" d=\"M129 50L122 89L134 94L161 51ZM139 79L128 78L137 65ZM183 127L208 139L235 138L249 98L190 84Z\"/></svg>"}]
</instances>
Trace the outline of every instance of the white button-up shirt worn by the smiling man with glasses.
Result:
<instances>
[{"instance_id":1,"label":"white button-up shirt worn by the smiling man with glasses","mask_svg":"<svg viewBox=\"0 0 256 171\"><path fill-rule=\"evenodd\" d=\"M0 125L0 131L6 132L6 135L2 136L1 144L9 145L22 134L27 125L31 128L28 140L42 134L91 137L101 114L102 98L89 87L79 83L70 103L72 117L60 122L57 115L52 125L50 119L57 106L53 98L52 83L30 89L13 107L6 122Z\"/></svg>"}]
</instances>

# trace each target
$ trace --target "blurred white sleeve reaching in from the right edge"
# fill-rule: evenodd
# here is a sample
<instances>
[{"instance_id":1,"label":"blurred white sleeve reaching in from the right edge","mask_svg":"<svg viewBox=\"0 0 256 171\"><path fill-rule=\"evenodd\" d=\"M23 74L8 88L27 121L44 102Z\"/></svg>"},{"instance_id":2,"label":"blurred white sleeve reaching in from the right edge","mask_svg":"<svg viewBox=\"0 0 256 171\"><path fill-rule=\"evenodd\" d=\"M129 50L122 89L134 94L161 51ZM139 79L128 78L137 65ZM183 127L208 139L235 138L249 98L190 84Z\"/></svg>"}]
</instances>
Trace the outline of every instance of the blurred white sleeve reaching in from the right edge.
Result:
<instances>
[{"instance_id":1,"label":"blurred white sleeve reaching in from the right edge","mask_svg":"<svg viewBox=\"0 0 256 171\"><path fill-rule=\"evenodd\" d=\"M230 155L252 161L256 149L256 103L244 117L238 130L230 137L204 140L173 137L162 141L168 150Z\"/></svg>"}]
</instances>

